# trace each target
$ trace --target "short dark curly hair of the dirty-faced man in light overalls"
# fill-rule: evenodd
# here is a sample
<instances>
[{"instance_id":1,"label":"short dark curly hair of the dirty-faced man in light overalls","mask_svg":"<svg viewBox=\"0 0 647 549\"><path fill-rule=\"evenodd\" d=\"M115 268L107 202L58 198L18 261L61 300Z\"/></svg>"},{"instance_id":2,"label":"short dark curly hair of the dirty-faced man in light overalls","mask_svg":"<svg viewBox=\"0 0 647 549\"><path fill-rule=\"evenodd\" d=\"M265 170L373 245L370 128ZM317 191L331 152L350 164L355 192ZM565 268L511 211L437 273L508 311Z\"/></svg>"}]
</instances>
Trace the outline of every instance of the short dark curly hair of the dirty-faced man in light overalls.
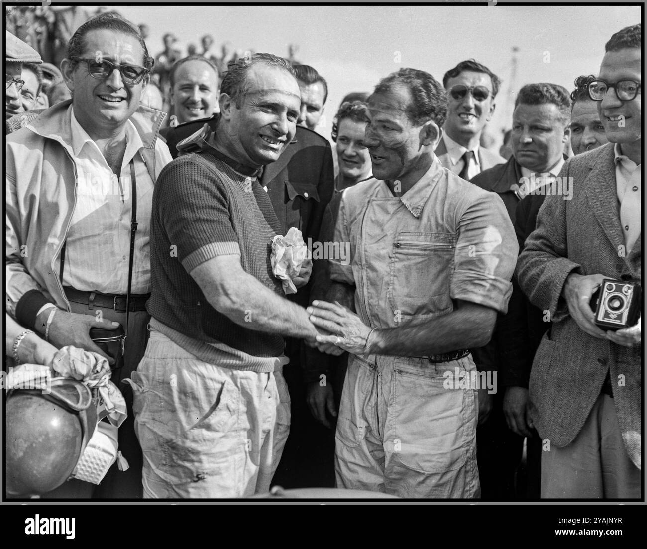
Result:
<instances>
[{"instance_id":1,"label":"short dark curly hair of the dirty-faced man in light overalls","mask_svg":"<svg viewBox=\"0 0 647 549\"><path fill-rule=\"evenodd\" d=\"M440 82L429 73L403 67L396 73L382 78L373 95L386 93L396 85L405 85L411 93L411 104L406 109L406 115L411 124L422 126L433 120L442 127L447 118L447 93ZM372 97L372 96L371 96Z\"/></svg>"}]
</instances>

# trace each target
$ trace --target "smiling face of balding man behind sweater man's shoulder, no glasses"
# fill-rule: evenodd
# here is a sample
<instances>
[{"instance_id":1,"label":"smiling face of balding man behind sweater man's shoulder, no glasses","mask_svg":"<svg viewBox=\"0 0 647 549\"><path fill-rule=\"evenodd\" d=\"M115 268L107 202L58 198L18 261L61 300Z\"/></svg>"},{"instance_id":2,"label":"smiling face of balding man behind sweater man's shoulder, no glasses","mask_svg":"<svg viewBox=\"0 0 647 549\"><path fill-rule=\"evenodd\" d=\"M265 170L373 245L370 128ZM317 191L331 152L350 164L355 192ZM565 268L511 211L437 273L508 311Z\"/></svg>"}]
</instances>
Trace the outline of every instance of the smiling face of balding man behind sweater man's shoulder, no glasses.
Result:
<instances>
[{"instance_id":1,"label":"smiling face of balding man behind sweater man's shoulder, no glasses","mask_svg":"<svg viewBox=\"0 0 647 549\"><path fill-rule=\"evenodd\" d=\"M183 124L214 114L218 102L218 75L201 60L182 63L175 71L171 105L177 122Z\"/></svg>"}]
</instances>

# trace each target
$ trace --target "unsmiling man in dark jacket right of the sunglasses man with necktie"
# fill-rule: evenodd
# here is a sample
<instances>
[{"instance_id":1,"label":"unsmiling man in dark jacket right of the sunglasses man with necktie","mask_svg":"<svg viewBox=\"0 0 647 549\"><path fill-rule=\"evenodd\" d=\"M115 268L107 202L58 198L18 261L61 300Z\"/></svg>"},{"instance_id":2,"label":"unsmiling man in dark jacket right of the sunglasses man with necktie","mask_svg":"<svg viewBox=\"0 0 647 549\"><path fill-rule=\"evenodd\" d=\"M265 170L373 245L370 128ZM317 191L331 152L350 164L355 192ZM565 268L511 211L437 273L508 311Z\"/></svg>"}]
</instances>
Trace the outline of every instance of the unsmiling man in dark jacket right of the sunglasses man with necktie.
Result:
<instances>
[{"instance_id":1,"label":"unsmiling man in dark jacket right of the sunglasses man with necktie","mask_svg":"<svg viewBox=\"0 0 647 549\"><path fill-rule=\"evenodd\" d=\"M564 143L570 135L570 115L571 99L564 87L557 84L523 86L512 114L512 157L505 164L485 170L472 179L474 185L496 192L503 199L513 224L520 200L529 194L533 199L542 200L543 191L552 188L549 184L560 173L565 161ZM568 186L563 189L572 191ZM492 398L490 418L481 423L477 431L477 458L484 499L525 497L525 494L515 494L513 489L524 436L529 437L528 482L529 487L534 487L529 497L538 499L540 495L538 451L534 445L539 439L525 413L529 364L532 363L524 322L527 304L514 280L512 284L508 313L499 316L492 341L473 350L479 370L498 370L502 388Z\"/></svg>"}]
</instances>

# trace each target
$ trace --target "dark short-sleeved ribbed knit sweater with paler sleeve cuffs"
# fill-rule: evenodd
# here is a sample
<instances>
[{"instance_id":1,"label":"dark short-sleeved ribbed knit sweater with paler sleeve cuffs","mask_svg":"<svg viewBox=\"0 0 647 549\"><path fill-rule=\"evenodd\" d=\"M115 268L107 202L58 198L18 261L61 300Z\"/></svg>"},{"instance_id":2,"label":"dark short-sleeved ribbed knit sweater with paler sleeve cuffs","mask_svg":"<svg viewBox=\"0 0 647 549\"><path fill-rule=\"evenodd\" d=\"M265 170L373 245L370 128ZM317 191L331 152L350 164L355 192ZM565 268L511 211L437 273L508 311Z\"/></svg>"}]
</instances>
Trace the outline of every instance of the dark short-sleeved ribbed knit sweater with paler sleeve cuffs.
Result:
<instances>
[{"instance_id":1,"label":"dark short-sleeved ribbed knit sweater with paler sleeve cuffs","mask_svg":"<svg viewBox=\"0 0 647 549\"><path fill-rule=\"evenodd\" d=\"M281 232L272 203L252 170L243 174L224 159L208 151L193 153L160 173L153 193L147 309L194 341L221 342L252 357L278 357L280 335L253 330L253 319L247 328L219 313L189 274L211 258L239 253L247 273L283 295L270 264L272 238ZM245 314L239 311L240 322L248 320Z\"/></svg>"}]
</instances>

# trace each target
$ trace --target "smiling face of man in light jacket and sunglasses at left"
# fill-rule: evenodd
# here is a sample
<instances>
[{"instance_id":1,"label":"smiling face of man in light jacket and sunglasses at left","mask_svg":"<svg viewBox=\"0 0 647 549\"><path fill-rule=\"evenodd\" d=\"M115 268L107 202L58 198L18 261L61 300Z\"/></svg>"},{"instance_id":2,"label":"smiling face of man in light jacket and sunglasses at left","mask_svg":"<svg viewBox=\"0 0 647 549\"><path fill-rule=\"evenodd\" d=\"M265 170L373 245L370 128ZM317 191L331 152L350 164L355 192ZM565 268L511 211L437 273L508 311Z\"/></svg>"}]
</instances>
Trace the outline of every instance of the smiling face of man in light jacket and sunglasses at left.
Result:
<instances>
[{"instance_id":1,"label":"smiling face of man in light jacket and sunglasses at left","mask_svg":"<svg viewBox=\"0 0 647 549\"><path fill-rule=\"evenodd\" d=\"M144 65L144 52L135 36L107 29L91 30L83 39L79 57L102 58L116 64ZM88 72L87 63L78 62L72 68L68 59L61 63L65 84L72 92L74 116L93 139L120 131L139 107L142 91L148 82L145 76L139 84L127 85L120 71L113 71L101 80Z\"/></svg>"}]
</instances>

